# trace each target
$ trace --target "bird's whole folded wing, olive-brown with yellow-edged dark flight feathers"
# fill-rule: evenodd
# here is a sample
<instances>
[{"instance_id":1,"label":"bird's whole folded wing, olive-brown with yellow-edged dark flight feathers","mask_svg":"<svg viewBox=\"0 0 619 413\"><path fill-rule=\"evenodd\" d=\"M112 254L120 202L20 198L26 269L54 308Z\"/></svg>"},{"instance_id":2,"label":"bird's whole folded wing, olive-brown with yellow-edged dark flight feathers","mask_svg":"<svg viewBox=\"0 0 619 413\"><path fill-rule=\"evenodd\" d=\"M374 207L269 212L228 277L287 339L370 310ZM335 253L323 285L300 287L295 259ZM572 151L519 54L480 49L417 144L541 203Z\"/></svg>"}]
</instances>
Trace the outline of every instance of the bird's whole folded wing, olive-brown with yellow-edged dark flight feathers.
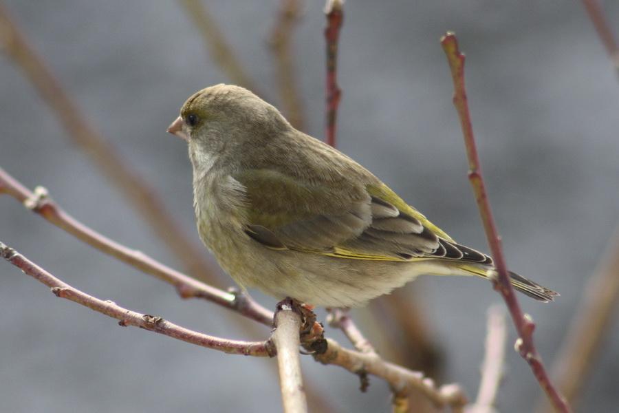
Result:
<instances>
[{"instance_id":1,"label":"bird's whole folded wing, olive-brown with yellow-edged dark flight feathers","mask_svg":"<svg viewBox=\"0 0 619 413\"><path fill-rule=\"evenodd\" d=\"M362 260L488 259L455 244L384 184L343 189L266 169L232 177L246 189L246 233L268 248Z\"/></svg>"}]
</instances>

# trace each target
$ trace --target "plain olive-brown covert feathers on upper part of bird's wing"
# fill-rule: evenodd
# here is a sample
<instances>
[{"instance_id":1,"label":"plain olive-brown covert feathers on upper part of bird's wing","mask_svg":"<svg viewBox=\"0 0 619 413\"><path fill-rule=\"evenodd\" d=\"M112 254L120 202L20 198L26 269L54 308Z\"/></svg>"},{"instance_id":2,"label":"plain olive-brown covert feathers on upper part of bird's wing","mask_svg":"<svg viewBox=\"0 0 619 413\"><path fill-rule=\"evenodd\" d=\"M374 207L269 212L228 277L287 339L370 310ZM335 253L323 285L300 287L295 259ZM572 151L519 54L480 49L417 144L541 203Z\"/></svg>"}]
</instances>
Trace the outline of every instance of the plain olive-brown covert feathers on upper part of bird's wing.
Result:
<instances>
[{"instance_id":1,"label":"plain olive-brown covert feathers on upper part of bird's wing","mask_svg":"<svg viewBox=\"0 0 619 413\"><path fill-rule=\"evenodd\" d=\"M325 182L311 184L268 169L232 177L246 188L246 233L265 246L332 253L371 224L370 195L362 187L334 193Z\"/></svg>"}]
</instances>

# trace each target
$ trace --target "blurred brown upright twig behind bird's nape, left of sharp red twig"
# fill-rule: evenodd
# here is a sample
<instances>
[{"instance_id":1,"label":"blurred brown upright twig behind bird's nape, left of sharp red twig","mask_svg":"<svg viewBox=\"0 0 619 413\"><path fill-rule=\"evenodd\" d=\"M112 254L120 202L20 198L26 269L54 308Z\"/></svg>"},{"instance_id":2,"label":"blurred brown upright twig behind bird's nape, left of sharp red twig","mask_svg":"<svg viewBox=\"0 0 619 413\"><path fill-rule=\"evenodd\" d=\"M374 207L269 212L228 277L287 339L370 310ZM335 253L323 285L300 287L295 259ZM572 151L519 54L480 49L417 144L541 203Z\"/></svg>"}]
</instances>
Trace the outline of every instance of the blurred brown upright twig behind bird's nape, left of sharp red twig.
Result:
<instances>
[{"instance_id":1,"label":"blurred brown upright twig behind bird's nape, left of sharp red twig","mask_svg":"<svg viewBox=\"0 0 619 413\"><path fill-rule=\"evenodd\" d=\"M279 85L282 112L292 126L304 131L303 103L298 92L292 53L292 35L302 14L301 6L303 3L300 0L280 1L278 17L269 44L276 67L275 78Z\"/></svg>"}]
</instances>

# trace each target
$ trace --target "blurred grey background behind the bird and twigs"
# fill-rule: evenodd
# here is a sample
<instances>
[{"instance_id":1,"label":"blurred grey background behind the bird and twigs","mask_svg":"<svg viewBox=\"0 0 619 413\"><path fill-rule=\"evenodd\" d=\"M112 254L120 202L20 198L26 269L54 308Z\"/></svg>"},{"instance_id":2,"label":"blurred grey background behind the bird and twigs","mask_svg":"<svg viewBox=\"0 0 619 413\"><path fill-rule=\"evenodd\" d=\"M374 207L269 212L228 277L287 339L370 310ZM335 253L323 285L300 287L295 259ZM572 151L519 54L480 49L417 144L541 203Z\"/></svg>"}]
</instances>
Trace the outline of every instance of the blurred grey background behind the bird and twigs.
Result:
<instances>
[{"instance_id":1,"label":"blurred grey background behind the bird and twigs","mask_svg":"<svg viewBox=\"0 0 619 413\"><path fill-rule=\"evenodd\" d=\"M120 155L158 189L196 243L186 145L165 133L184 100L230 82L176 1L3 2L49 67ZM281 104L268 38L279 2L208 2L262 96ZM619 3L605 16L619 32ZM305 1L294 32L308 133L323 136L324 3ZM1 28L0 28L1 29ZM561 293L522 296L548 366L583 288L619 222L619 82L577 2L348 1L338 78L338 148L458 242L488 251L466 178L466 155L439 38L454 31L466 53L468 97L490 202L508 265ZM0 54L0 167L43 185L75 218L113 240L180 268L49 107ZM101 299L230 339L262 339L227 310L183 301L171 286L74 240L0 196L0 241ZM204 250L204 254L208 254ZM0 262L0 406L5 412L274 412L274 361L230 356L116 321L50 291ZM232 280L221 277L225 288ZM481 279L422 277L411 295L442 357L442 382L473 398L484 355L486 310L500 301ZM252 294L268 308L275 300ZM354 317L365 319L363 313ZM324 318L324 313L319 313ZM382 319L390 324L391 319ZM580 403L619 405L619 328L609 326ZM541 391L513 350L509 326L501 412L532 411ZM327 328L327 335L345 340ZM380 347L379 347L380 350ZM305 380L336 411L389 411L389 390L303 357Z\"/></svg>"}]
</instances>

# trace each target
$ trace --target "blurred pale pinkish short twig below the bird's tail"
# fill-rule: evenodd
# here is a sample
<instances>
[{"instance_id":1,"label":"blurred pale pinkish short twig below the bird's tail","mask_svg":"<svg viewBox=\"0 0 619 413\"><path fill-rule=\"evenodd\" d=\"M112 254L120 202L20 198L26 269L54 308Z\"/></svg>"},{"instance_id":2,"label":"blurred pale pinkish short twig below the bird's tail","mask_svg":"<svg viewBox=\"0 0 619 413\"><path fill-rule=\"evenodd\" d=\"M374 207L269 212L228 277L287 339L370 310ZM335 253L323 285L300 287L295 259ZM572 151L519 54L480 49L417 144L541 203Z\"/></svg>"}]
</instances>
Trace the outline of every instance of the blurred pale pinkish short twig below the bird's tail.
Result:
<instances>
[{"instance_id":1,"label":"blurred pale pinkish short twig below the bird's tail","mask_svg":"<svg viewBox=\"0 0 619 413\"><path fill-rule=\"evenodd\" d=\"M506 326L503 308L490 306L486 330L486 356L481 364L481 382L475 404L467 407L467 413L492 413L497 400L499 385L503 379L506 348Z\"/></svg>"}]
</instances>

